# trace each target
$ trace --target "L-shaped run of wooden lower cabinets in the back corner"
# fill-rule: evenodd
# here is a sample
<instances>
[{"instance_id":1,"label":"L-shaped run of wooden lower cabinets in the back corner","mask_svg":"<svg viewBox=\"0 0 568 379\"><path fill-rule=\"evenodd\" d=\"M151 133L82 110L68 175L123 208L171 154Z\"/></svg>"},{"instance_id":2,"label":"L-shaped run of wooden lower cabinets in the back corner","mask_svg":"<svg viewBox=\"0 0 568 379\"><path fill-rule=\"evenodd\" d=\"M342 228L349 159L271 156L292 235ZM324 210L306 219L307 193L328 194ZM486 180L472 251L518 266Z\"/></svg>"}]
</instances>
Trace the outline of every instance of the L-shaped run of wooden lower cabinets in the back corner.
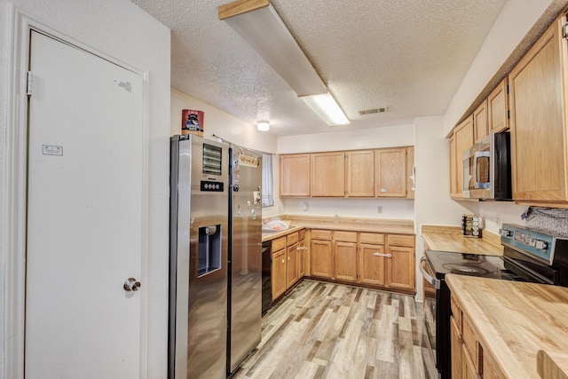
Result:
<instances>
[{"instance_id":1,"label":"L-shaped run of wooden lower cabinets in the back corner","mask_svg":"<svg viewBox=\"0 0 568 379\"><path fill-rule=\"evenodd\" d=\"M306 272L313 278L414 291L414 234L312 229L310 235L309 247L304 231L272 240L272 299Z\"/></svg>"}]
</instances>

